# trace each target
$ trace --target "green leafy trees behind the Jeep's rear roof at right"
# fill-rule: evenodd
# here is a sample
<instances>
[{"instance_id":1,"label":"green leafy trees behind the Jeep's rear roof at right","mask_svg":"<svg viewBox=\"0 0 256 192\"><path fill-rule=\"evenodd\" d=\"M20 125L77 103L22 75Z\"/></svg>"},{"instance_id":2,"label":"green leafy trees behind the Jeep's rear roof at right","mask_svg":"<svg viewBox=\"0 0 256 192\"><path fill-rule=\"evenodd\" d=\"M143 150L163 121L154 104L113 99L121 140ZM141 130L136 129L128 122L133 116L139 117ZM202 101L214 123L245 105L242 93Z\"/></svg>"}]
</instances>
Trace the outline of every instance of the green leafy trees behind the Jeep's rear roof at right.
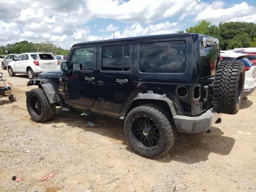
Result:
<instances>
[{"instance_id":1,"label":"green leafy trees behind the Jeep's rear roof at right","mask_svg":"<svg viewBox=\"0 0 256 192\"><path fill-rule=\"evenodd\" d=\"M206 20L202 20L195 26L188 27L186 32L200 33L218 38L220 50L256 47L256 24L252 22L220 22L216 26Z\"/></svg>"}]
</instances>

